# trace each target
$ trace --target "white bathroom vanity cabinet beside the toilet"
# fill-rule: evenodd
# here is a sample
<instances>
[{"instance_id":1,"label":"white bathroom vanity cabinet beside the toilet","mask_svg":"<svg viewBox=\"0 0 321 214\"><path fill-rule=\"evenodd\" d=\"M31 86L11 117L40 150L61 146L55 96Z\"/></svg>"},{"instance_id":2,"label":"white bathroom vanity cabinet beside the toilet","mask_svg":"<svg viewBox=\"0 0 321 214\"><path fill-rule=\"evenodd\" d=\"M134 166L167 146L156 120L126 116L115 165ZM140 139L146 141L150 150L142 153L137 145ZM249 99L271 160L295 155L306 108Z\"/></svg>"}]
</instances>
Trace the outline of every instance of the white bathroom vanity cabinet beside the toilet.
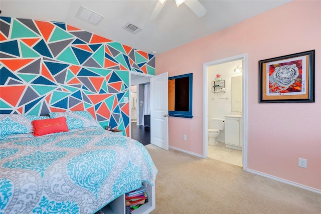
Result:
<instances>
[{"instance_id":1,"label":"white bathroom vanity cabinet beside the toilet","mask_svg":"<svg viewBox=\"0 0 321 214\"><path fill-rule=\"evenodd\" d=\"M225 116L225 144L228 148L242 150L242 116Z\"/></svg>"}]
</instances>

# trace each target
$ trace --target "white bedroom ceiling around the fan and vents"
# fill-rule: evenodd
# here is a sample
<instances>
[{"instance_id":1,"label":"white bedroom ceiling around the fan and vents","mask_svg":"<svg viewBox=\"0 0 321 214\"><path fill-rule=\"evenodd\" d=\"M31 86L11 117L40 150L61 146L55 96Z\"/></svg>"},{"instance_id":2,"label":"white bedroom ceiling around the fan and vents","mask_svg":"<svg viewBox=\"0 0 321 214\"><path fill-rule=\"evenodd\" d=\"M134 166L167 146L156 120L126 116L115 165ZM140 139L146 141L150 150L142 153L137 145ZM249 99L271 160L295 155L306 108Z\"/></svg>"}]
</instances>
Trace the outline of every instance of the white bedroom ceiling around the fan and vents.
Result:
<instances>
[{"instance_id":1,"label":"white bedroom ceiling around the fan and vents","mask_svg":"<svg viewBox=\"0 0 321 214\"><path fill-rule=\"evenodd\" d=\"M148 18L157 0L1 0L0 10L4 17L64 22L138 50L155 51L157 55L291 1L200 1L207 13L198 18L185 4L177 7L175 1L168 0L153 22ZM104 19L97 26L77 19L80 6ZM143 30L137 34L124 30L128 22Z\"/></svg>"}]
</instances>

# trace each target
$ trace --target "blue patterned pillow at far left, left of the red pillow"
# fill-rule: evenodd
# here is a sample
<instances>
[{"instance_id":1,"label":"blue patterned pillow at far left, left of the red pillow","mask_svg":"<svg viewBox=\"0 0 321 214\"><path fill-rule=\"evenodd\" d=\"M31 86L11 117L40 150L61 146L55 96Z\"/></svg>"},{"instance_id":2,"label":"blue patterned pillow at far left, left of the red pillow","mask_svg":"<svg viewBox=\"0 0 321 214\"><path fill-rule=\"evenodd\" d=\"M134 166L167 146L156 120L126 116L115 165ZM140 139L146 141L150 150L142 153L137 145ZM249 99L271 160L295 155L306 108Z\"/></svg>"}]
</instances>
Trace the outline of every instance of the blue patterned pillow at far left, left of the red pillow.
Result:
<instances>
[{"instance_id":1,"label":"blue patterned pillow at far left, left of the red pillow","mask_svg":"<svg viewBox=\"0 0 321 214\"><path fill-rule=\"evenodd\" d=\"M33 133L31 121L49 117L21 114L0 114L0 135Z\"/></svg>"}]
</instances>

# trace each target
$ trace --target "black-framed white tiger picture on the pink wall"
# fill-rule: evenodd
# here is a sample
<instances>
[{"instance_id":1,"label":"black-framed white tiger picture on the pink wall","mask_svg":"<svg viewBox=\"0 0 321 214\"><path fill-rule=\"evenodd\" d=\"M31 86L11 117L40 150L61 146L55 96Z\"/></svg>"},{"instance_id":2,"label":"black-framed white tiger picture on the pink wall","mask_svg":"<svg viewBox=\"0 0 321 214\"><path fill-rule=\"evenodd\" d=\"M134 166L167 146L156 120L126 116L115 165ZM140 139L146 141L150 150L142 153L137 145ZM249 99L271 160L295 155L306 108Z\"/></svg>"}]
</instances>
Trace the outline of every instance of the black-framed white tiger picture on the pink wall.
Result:
<instances>
[{"instance_id":1,"label":"black-framed white tiger picture on the pink wall","mask_svg":"<svg viewBox=\"0 0 321 214\"><path fill-rule=\"evenodd\" d=\"M259 61L259 103L315 102L315 50Z\"/></svg>"}]
</instances>

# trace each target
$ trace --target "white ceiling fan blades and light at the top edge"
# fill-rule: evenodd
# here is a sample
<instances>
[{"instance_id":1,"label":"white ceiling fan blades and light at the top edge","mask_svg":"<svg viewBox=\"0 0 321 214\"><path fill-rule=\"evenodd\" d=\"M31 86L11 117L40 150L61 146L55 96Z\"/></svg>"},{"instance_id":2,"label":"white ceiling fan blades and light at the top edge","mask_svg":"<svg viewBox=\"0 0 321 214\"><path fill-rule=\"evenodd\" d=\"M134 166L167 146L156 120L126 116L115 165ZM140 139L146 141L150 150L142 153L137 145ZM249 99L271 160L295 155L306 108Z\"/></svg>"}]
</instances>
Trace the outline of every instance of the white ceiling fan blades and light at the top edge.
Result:
<instances>
[{"instance_id":1,"label":"white ceiling fan blades and light at the top edge","mask_svg":"<svg viewBox=\"0 0 321 214\"><path fill-rule=\"evenodd\" d=\"M152 11L149 21L154 21L159 13L161 13L165 3L167 0L158 0L154 10ZM175 0L175 3L177 7L185 3L198 17L203 17L207 10L204 8L204 6L198 1L198 0Z\"/></svg>"}]
</instances>

